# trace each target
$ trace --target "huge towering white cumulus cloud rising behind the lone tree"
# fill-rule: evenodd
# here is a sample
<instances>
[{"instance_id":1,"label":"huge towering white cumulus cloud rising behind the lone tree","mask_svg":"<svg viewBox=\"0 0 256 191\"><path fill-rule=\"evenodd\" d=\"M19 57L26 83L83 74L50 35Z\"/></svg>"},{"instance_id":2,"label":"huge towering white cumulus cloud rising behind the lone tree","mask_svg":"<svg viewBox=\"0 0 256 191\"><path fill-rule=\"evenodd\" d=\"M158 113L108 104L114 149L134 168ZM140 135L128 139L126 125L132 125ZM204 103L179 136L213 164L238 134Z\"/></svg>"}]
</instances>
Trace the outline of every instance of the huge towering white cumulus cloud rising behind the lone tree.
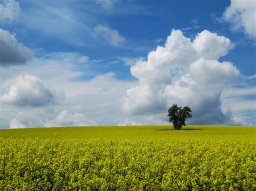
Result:
<instances>
[{"instance_id":1,"label":"huge towering white cumulus cloud rising behind the lone tree","mask_svg":"<svg viewBox=\"0 0 256 191\"><path fill-rule=\"evenodd\" d=\"M191 107L191 123L232 123L231 116L221 110L220 95L241 75L231 62L218 61L230 48L229 39L207 30L193 41L172 30L164 46L131 67L138 85L127 90L122 109L136 115L165 114L177 103Z\"/></svg>"}]
</instances>

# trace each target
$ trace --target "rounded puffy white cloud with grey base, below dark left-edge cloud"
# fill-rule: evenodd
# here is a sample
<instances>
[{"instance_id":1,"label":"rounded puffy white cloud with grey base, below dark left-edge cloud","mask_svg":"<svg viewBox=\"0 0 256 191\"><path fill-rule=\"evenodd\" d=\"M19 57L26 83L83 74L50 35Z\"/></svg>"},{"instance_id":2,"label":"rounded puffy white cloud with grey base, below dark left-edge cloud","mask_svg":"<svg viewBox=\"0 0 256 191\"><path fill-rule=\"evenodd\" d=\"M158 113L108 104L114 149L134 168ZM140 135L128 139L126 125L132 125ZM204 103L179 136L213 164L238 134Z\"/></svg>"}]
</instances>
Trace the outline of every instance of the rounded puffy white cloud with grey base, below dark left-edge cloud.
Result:
<instances>
[{"instance_id":1,"label":"rounded puffy white cloud with grey base, below dark left-edge cloud","mask_svg":"<svg viewBox=\"0 0 256 191\"><path fill-rule=\"evenodd\" d=\"M18 107L42 107L55 104L64 97L64 93L56 93L33 75L19 75L10 83L9 92L0 97L0 101L5 104Z\"/></svg>"}]
</instances>

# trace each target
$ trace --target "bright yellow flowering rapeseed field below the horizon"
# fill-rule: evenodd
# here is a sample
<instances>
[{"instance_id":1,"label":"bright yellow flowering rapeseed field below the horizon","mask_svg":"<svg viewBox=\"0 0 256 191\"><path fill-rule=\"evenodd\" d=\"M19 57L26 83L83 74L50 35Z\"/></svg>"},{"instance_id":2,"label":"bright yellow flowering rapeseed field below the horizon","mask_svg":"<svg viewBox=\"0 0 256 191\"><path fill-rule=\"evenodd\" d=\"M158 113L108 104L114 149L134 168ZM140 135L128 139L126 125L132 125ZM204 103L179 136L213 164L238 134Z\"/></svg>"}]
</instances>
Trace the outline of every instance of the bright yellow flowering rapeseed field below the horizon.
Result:
<instances>
[{"instance_id":1,"label":"bright yellow flowering rapeseed field below the horizon","mask_svg":"<svg viewBox=\"0 0 256 191\"><path fill-rule=\"evenodd\" d=\"M253 127L0 130L0 190L256 190Z\"/></svg>"}]
</instances>

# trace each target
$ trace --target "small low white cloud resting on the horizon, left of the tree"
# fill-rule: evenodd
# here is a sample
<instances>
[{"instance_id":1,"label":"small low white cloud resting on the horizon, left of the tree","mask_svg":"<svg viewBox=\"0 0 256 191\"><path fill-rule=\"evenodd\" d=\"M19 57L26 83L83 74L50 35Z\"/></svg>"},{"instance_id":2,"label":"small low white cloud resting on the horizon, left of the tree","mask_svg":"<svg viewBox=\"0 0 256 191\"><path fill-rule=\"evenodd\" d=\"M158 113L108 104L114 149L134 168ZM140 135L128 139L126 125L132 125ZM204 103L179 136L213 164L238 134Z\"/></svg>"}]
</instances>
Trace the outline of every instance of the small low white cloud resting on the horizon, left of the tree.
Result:
<instances>
[{"instance_id":1,"label":"small low white cloud resting on the horizon, left of the tree","mask_svg":"<svg viewBox=\"0 0 256 191\"><path fill-rule=\"evenodd\" d=\"M87 119L87 117L80 113L72 114L68 110L63 110L53 120L46 121L46 127L53 126L92 126L98 125L95 121Z\"/></svg>"}]
</instances>

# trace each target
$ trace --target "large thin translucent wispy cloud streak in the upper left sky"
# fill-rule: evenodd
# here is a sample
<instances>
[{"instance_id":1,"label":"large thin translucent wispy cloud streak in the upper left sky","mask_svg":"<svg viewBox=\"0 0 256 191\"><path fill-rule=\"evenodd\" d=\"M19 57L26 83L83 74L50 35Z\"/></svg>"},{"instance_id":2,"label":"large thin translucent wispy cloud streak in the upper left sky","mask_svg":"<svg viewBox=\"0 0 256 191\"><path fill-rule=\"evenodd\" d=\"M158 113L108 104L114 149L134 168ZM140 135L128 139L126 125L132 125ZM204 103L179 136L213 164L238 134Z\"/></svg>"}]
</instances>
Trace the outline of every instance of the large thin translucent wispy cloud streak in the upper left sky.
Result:
<instances>
[{"instance_id":1,"label":"large thin translucent wispy cloud streak in the upper left sky","mask_svg":"<svg viewBox=\"0 0 256 191\"><path fill-rule=\"evenodd\" d=\"M83 14L86 17L86 13ZM68 6L63 8L43 2L26 6L22 12L24 24L28 29L39 34L64 41L65 43L84 46L90 36L90 29Z\"/></svg>"}]
</instances>

